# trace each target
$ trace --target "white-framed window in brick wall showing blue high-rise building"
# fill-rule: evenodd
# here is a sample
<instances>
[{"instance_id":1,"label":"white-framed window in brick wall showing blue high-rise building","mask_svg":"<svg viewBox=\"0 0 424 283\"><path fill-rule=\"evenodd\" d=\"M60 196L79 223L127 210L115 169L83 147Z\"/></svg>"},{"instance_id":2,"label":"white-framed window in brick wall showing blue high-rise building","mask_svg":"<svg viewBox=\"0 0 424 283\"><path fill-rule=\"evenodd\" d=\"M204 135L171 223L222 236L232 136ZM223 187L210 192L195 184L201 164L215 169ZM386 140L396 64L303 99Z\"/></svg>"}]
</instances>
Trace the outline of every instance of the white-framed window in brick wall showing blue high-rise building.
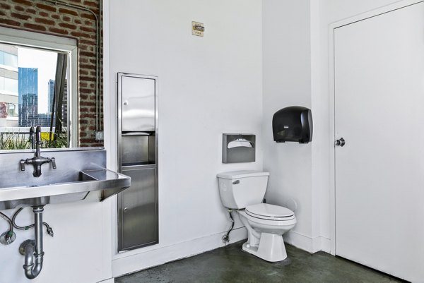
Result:
<instances>
[{"instance_id":1,"label":"white-framed window in brick wall showing blue high-rise building","mask_svg":"<svg viewBox=\"0 0 424 283\"><path fill-rule=\"evenodd\" d=\"M0 150L29 148L42 126L44 147L76 144L76 41L0 28Z\"/></svg>"}]
</instances>

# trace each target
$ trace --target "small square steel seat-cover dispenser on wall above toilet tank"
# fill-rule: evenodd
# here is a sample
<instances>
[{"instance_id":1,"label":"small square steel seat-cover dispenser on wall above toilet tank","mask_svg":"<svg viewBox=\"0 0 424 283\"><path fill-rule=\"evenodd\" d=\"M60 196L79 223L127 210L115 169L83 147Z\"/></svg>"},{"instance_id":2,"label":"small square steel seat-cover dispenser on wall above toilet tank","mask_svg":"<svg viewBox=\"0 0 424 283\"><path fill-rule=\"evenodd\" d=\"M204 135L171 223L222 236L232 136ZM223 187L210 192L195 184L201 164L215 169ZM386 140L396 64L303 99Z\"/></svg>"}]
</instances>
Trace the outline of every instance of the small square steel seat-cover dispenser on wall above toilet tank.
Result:
<instances>
[{"instance_id":1,"label":"small square steel seat-cover dispenser on wall above toilet tank","mask_svg":"<svg viewBox=\"0 0 424 283\"><path fill-rule=\"evenodd\" d=\"M255 143L251 133L223 133L223 163L254 162Z\"/></svg>"}]
</instances>

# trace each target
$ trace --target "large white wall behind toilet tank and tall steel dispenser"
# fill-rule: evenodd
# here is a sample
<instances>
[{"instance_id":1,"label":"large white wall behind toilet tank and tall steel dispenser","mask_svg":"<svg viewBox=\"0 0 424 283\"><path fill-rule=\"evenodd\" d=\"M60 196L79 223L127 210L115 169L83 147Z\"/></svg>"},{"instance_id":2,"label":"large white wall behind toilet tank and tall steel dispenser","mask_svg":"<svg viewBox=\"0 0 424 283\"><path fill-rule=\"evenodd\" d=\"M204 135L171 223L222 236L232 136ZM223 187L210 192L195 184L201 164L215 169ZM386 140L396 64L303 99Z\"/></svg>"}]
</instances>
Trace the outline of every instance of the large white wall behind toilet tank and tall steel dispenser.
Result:
<instances>
[{"instance_id":1,"label":"large white wall behind toilet tank and tall steel dispenser","mask_svg":"<svg viewBox=\"0 0 424 283\"><path fill-rule=\"evenodd\" d=\"M109 27L111 97L117 72L159 78L160 243L114 255L116 276L222 246L216 174L262 169L261 1L115 0ZM257 161L222 164L222 133L256 134Z\"/></svg>"}]
</instances>

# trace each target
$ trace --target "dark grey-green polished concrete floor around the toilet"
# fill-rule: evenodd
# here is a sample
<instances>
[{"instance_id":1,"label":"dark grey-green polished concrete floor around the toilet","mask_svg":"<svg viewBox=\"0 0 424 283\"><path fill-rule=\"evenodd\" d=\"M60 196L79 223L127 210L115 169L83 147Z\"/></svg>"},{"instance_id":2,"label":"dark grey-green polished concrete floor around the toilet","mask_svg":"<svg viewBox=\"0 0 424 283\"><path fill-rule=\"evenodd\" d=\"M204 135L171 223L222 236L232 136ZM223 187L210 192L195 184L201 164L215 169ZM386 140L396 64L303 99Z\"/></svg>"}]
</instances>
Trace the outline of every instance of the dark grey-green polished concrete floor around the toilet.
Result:
<instances>
[{"instance_id":1,"label":"dark grey-green polished concrete floor around the toilet","mask_svg":"<svg viewBox=\"0 0 424 283\"><path fill-rule=\"evenodd\" d=\"M286 245L288 259L268 263L241 250L242 242L115 279L116 283L153 282L404 282L328 253L311 255Z\"/></svg>"}]
</instances>

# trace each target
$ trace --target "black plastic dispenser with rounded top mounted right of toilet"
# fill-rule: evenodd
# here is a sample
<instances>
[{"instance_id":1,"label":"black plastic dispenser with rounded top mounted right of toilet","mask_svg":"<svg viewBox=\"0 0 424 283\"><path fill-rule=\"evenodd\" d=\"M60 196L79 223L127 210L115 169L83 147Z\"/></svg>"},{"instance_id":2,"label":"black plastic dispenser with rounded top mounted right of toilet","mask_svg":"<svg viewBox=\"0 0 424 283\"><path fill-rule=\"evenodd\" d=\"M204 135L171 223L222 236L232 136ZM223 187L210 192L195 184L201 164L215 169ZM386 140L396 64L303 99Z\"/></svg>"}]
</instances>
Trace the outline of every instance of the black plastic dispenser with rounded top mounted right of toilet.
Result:
<instances>
[{"instance_id":1,"label":"black plastic dispenser with rounded top mounted right of toilet","mask_svg":"<svg viewBox=\"0 0 424 283\"><path fill-rule=\"evenodd\" d=\"M301 106L278 110L272 117L273 139L277 143L312 141L312 112Z\"/></svg>"}]
</instances>

